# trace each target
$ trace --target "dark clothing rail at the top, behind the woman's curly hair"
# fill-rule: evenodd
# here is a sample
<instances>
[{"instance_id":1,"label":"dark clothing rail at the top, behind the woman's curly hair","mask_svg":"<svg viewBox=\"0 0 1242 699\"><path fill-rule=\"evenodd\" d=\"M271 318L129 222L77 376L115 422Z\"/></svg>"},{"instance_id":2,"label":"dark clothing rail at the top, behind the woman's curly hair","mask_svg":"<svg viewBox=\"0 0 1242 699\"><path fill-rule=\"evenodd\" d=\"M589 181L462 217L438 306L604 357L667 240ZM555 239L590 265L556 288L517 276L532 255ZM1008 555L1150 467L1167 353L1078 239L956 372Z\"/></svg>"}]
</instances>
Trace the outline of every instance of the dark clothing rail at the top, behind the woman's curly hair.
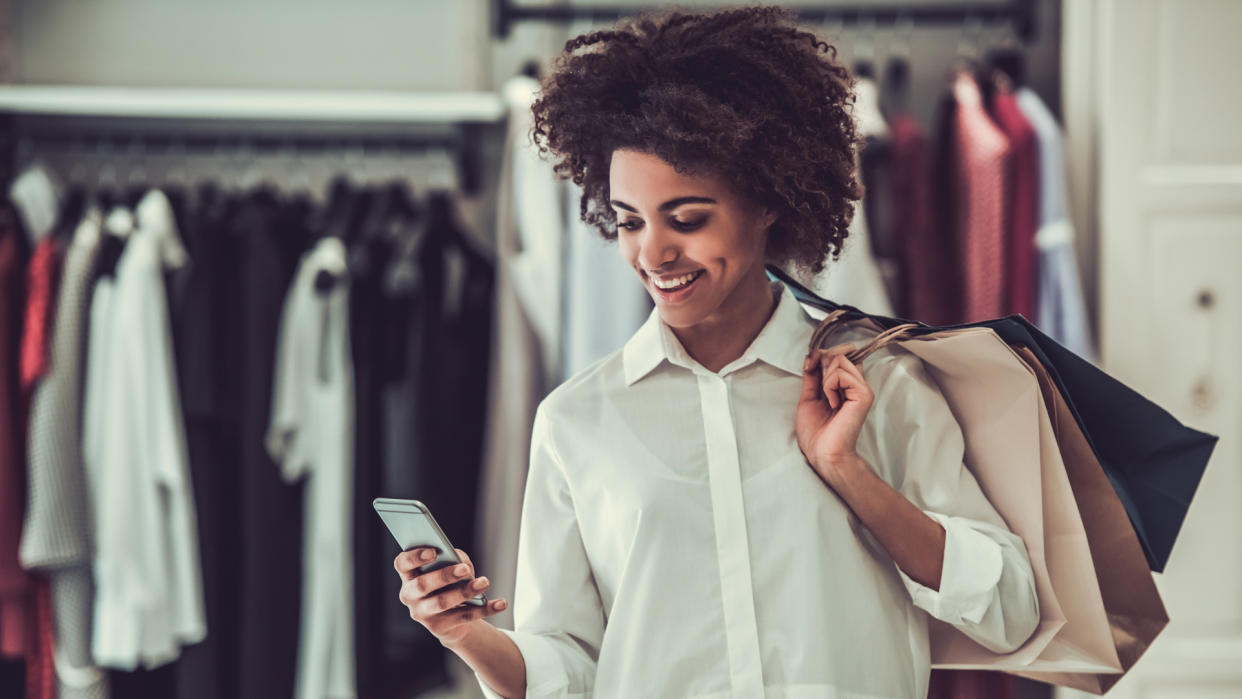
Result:
<instances>
[{"instance_id":1,"label":"dark clothing rail at the top, behind the woman's curly hair","mask_svg":"<svg viewBox=\"0 0 1242 699\"><path fill-rule=\"evenodd\" d=\"M954 26L972 21L981 24L1010 22L1013 34L1030 42L1036 37L1036 1L1009 2L940 2L919 5L825 5L794 6L797 17L806 22L840 21L845 26L922 25ZM570 24L579 20L611 21L656 7L623 5L519 5L513 0L492 0L492 34L507 38L509 30L520 21Z\"/></svg>"}]
</instances>

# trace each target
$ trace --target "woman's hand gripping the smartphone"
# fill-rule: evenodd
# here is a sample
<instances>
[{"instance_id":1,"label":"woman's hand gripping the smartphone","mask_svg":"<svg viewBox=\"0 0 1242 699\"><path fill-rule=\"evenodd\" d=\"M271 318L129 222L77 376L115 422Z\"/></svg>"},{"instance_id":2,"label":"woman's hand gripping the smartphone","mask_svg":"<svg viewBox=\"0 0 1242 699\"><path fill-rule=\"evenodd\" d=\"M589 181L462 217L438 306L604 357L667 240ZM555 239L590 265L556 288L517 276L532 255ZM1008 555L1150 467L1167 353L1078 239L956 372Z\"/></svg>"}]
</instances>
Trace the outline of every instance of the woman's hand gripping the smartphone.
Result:
<instances>
[{"instance_id":1,"label":"woman's hand gripping the smartphone","mask_svg":"<svg viewBox=\"0 0 1242 699\"><path fill-rule=\"evenodd\" d=\"M504 611L504 600L488 600L486 606L463 605L483 592L491 582L474 577L474 564L461 549L453 549L463 562L417 575L420 566L436 557L436 549L422 546L397 555L392 562L401 575L401 603L410 610L410 618L427 627L441 644L457 643L477 620Z\"/></svg>"}]
</instances>

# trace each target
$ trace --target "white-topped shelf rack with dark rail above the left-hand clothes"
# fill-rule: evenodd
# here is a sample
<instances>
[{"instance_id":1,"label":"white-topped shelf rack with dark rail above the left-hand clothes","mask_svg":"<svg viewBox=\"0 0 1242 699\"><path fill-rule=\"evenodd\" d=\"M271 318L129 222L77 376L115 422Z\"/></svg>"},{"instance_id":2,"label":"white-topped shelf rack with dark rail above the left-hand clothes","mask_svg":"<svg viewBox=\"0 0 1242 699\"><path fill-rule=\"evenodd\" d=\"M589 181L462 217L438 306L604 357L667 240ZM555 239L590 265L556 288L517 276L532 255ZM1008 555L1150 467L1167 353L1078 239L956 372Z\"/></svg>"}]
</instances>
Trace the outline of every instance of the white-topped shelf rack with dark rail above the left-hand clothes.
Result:
<instances>
[{"instance_id":1,"label":"white-topped shelf rack with dark rail above the left-hand clothes","mask_svg":"<svg viewBox=\"0 0 1242 699\"><path fill-rule=\"evenodd\" d=\"M338 153L360 156L355 165L369 153L447 153L457 185L472 195L489 128L504 117L491 92L6 86L0 155L12 174L47 148L125 161Z\"/></svg>"}]
</instances>

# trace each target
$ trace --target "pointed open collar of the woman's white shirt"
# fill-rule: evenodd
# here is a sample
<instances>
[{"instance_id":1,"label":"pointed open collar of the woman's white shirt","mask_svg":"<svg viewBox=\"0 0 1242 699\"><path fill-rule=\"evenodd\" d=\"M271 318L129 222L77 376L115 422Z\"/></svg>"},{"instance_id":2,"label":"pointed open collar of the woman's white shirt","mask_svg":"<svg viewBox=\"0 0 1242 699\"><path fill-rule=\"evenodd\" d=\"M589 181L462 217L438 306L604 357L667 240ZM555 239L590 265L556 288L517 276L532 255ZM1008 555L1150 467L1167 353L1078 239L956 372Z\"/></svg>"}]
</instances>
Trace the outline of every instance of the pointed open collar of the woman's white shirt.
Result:
<instances>
[{"instance_id":1,"label":"pointed open collar of the woman's white shirt","mask_svg":"<svg viewBox=\"0 0 1242 699\"><path fill-rule=\"evenodd\" d=\"M789 287L780 282L769 283L779 294L776 309L746 351L722 368L720 375L741 369L755 360L763 360L797 376L802 375L802 358L806 356L814 320L794 298ZM626 385L642 379L666 359L692 371L707 372L686 353L677 335L660 318L660 308L651 309L647 320L626 343L621 359Z\"/></svg>"}]
</instances>

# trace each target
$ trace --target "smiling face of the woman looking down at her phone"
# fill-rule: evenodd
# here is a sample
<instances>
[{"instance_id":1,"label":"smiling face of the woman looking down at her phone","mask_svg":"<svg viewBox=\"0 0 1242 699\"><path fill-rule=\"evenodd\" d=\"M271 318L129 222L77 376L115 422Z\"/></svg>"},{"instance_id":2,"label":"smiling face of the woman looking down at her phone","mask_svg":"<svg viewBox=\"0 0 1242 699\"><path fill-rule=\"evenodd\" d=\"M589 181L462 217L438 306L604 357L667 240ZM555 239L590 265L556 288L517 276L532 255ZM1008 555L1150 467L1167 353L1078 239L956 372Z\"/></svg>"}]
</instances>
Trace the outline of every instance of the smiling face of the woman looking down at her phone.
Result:
<instances>
[{"instance_id":1,"label":"smiling face of the woman looking down at her phone","mask_svg":"<svg viewBox=\"0 0 1242 699\"><path fill-rule=\"evenodd\" d=\"M668 325L727 325L770 299L764 251L775 215L636 150L612 154L609 187L621 255Z\"/></svg>"}]
</instances>

